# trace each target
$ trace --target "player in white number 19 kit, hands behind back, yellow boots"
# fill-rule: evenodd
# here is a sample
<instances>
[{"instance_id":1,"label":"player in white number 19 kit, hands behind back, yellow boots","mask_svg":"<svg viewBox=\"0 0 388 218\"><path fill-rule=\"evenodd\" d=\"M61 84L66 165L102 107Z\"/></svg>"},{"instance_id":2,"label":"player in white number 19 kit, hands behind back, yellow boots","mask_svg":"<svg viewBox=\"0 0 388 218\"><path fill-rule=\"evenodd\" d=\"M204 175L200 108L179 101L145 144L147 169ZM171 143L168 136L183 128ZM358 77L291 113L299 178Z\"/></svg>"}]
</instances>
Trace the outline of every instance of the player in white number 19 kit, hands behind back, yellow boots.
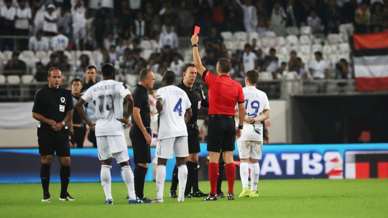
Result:
<instances>
[{"instance_id":1,"label":"player in white number 19 kit, hands behind back, yellow boots","mask_svg":"<svg viewBox=\"0 0 388 218\"><path fill-rule=\"evenodd\" d=\"M246 71L246 86L242 88L246 107L244 131L237 140L242 182L242 192L239 197L258 197L257 183L260 173L258 160L262 159L263 148L263 126L261 122L269 118L270 112L267 94L256 88L258 80L258 71L255 69ZM238 112L236 112L236 116L238 116ZM249 167L251 168L251 191L249 191L248 186Z\"/></svg>"}]
</instances>

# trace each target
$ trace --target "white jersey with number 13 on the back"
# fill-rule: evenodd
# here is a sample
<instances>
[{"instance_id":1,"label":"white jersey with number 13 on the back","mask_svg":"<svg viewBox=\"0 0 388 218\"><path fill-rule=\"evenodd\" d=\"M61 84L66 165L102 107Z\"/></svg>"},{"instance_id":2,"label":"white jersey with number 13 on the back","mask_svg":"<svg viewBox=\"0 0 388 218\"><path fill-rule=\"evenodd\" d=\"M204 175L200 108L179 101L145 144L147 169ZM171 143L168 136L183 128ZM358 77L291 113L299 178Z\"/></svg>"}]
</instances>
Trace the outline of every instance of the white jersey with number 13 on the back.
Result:
<instances>
[{"instance_id":1,"label":"white jersey with number 13 on the back","mask_svg":"<svg viewBox=\"0 0 388 218\"><path fill-rule=\"evenodd\" d=\"M96 102L96 137L124 135L123 124L117 118L123 118L123 99L130 93L124 83L114 80L102 80L88 88L81 96L86 102Z\"/></svg>"}]
</instances>

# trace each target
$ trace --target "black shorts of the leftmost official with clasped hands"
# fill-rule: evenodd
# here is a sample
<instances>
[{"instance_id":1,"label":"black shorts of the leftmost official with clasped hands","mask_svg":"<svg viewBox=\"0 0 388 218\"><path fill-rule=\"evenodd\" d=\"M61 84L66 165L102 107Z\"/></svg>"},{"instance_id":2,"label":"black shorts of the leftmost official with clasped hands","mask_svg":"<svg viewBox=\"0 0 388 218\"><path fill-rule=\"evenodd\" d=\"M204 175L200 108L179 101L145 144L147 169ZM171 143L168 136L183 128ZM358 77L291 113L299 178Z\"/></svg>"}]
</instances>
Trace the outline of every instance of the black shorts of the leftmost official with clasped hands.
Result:
<instances>
[{"instance_id":1,"label":"black shorts of the leftmost official with clasped hands","mask_svg":"<svg viewBox=\"0 0 388 218\"><path fill-rule=\"evenodd\" d=\"M69 130L62 128L61 131L38 128L39 154L70 157Z\"/></svg>"}]
</instances>

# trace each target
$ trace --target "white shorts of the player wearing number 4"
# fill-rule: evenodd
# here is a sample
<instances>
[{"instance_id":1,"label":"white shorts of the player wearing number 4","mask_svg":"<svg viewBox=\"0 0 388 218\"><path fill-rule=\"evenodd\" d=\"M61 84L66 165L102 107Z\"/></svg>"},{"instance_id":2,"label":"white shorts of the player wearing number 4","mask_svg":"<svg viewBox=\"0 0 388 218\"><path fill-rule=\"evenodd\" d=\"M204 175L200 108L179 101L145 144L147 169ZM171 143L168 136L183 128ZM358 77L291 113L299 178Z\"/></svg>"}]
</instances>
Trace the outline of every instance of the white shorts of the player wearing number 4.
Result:
<instances>
[{"instance_id":1,"label":"white shorts of the player wearing number 4","mask_svg":"<svg viewBox=\"0 0 388 218\"><path fill-rule=\"evenodd\" d=\"M175 153L175 157L189 156L187 136L165 138L158 141L158 145L156 145L156 157L171 159L174 157L173 153Z\"/></svg>"}]
</instances>

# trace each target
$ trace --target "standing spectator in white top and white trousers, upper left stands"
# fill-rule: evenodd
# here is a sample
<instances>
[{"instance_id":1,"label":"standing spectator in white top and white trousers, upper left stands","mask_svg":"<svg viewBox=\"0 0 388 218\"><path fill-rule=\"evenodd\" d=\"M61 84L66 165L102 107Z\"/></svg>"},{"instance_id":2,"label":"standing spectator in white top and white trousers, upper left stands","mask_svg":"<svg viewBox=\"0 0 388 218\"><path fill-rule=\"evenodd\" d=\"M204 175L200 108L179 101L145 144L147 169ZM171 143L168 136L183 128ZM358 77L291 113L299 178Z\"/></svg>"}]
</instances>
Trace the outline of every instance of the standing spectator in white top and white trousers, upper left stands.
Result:
<instances>
[{"instance_id":1,"label":"standing spectator in white top and white trousers, upper left stands","mask_svg":"<svg viewBox=\"0 0 388 218\"><path fill-rule=\"evenodd\" d=\"M81 0L71 8L71 16L73 17L73 39L77 50L82 50L83 42L86 38L86 8Z\"/></svg>"}]
</instances>

